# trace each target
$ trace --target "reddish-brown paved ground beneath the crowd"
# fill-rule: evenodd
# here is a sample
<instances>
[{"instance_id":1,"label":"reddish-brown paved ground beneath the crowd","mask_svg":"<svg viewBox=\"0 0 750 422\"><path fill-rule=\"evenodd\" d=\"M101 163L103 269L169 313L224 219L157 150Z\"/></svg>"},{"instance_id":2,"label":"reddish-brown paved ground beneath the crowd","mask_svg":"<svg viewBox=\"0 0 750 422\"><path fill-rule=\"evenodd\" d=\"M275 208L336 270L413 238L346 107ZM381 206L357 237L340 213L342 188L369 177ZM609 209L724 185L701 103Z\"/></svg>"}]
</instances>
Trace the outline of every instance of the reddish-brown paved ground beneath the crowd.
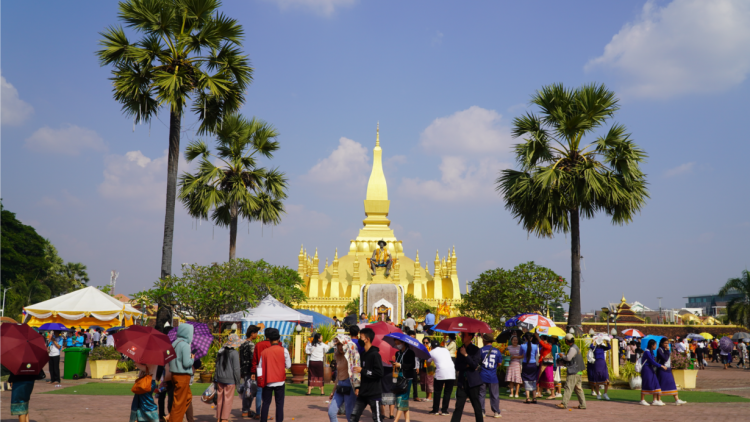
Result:
<instances>
[{"instance_id":1,"label":"reddish-brown paved ground beneath the crowd","mask_svg":"<svg viewBox=\"0 0 750 422\"><path fill-rule=\"evenodd\" d=\"M64 386L91 382L91 380L68 381L63 380ZM45 391L54 389L44 382L35 386L31 400L31 421L35 422L94 422L94 421L127 421L130 415L130 403L132 397L128 396L69 396L69 395L42 395ZM725 394L742 395L750 397L750 371L730 369L724 371L718 367L711 367L701 371L698 376L698 390L718 391ZM200 402L198 397L194 399L196 422L215 421L213 410ZM288 397L285 405L285 421L294 422L327 422L326 413L328 404L326 398L320 396L312 397ZM671 399L666 399L671 402ZM649 420L649 421L747 421L750 414L750 403L689 403L685 406L674 406L668 404L664 407L643 407L632 402L600 402L587 400L588 410L559 410L554 408L556 401L540 401L536 405L527 405L518 401L501 400L500 407L503 417L500 420L545 420L554 418L557 421L580 422L584 418L606 418L607 415L617 415L618 419L625 420ZM468 404L468 403L467 403ZM489 401L487 402L489 405ZM410 403L414 422L449 422L448 416L430 416L427 412L431 409L431 403ZM0 392L0 422L17 421L11 418L10 392ZM273 406L271 412L273 414ZM451 404L451 411L453 404ZM240 401L234 401L234 420L243 420L240 415ZM67 416L71 417L68 418ZM75 415L74 417L72 415ZM529 419L533 418L533 419ZM541 419L540 419L541 418ZM371 419L369 411L363 415L362 421ZM462 421L474 421L471 406L467 406ZM490 419L492 420L492 419ZM388 420L386 420L388 421ZM345 422L345 418L339 417L338 422Z\"/></svg>"}]
</instances>

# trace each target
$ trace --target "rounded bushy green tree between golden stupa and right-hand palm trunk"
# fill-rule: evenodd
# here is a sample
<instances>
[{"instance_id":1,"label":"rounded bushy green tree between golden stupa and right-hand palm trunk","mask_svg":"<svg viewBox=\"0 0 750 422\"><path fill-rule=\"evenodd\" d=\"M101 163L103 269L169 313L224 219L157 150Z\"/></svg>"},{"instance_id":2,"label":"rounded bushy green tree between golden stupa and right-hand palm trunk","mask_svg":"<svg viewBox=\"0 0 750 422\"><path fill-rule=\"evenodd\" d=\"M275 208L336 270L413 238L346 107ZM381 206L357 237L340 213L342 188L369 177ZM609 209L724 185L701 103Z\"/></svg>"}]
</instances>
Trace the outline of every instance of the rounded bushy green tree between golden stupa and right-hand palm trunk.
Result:
<instances>
[{"instance_id":1,"label":"rounded bushy green tree between golden stupa and right-hand palm trunk","mask_svg":"<svg viewBox=\"0 0 750 422\"><path fill-rule=\"evenodd\" d=\"M524 312L542 313L549 303L570 300L565 294L565 279L533 261L512 270L485 271L469 286L469 293L462 296L459 311L496 328L503 327L502 317Z\"/></svg>"}]
</instances>

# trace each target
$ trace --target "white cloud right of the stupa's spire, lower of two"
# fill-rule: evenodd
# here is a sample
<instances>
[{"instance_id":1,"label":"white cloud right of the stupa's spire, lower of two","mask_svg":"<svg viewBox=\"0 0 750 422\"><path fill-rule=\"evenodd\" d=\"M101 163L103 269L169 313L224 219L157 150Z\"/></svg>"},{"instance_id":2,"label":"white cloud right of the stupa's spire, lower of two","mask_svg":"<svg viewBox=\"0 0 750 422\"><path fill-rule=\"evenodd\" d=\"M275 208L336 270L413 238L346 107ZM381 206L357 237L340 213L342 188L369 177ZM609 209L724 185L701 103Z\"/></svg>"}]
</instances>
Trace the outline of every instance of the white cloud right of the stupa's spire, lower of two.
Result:
<instances>
[{"instance_id":1,"label":"white cloud right of the stupa's spire, lower of two","mask_svg":"<svg viewBox=\"0 0 750 422\"><path fill-rule=\"evenodd\" d=\"M497 200L495 179L498 172L508 167L494 158L470 160L459 156L444 156L440 163L440 180L404 178L399 193L433 201L455 202L466 200Z\"/></svg>"}]
</instances>

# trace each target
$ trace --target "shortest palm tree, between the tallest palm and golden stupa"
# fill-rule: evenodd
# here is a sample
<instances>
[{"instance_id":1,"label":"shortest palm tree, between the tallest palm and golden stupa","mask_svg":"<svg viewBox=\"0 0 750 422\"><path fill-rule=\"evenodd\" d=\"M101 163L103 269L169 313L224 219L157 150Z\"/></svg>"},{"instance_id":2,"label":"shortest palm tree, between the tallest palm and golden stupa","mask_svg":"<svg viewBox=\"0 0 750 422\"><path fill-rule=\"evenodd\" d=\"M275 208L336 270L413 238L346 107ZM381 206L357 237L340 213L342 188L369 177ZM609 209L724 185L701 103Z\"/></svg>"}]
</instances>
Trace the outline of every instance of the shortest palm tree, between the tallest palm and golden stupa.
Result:
<instances>
[{"instance_id":1,"label":"shortest palm tree, between the tallest palm and golden stupa","mask_svg":"<svg viewBox=\"0 0 750 422\"><path fill-rule=\"evenodd\" d=\"M247 120L234 114L227 116L216 130L217 153L211 154L203 141L191 143L186 151L188 162L201 157L195 174L180 177L180 199L188 214L218 226L229 226L229 259L237 248L237 224L240 218L278 224L284 212L287 179L277 168L259 167L258 156L272 158L279 149L278 132L268 123ZM215 166L214 157L221 162Z\"/></svg>"}]
</instances>

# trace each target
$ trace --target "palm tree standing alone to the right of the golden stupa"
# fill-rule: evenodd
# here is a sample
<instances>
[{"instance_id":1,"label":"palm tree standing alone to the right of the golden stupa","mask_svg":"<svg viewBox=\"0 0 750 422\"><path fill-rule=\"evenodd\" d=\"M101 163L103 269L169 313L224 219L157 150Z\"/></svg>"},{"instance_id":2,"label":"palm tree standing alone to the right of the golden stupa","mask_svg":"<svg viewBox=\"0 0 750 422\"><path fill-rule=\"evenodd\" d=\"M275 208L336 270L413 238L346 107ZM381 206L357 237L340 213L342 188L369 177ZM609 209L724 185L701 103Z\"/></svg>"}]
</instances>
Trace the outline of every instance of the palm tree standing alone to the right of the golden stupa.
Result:
<instances>
[{"instance_id":1,"label":"palm tree standing alone to the right of the golden stupa","mask_svg":"<svg viewBox=\"0 0 750 422\"><path fill-rule=\"evenodd\" d=\"M501 172L496 188L519 224L539 237L571 234L571 286L568 325L581 325L581 238L579 220L597 211L613 224L632 221L648 198L639 165L647 155L625 126L603 126L619 110L619 100L604 85L577 89L545 86L532 96L540 114L513 120L519 170ZM585 135L601 135L588 144Z\"/></svg>"}]
</instances>

